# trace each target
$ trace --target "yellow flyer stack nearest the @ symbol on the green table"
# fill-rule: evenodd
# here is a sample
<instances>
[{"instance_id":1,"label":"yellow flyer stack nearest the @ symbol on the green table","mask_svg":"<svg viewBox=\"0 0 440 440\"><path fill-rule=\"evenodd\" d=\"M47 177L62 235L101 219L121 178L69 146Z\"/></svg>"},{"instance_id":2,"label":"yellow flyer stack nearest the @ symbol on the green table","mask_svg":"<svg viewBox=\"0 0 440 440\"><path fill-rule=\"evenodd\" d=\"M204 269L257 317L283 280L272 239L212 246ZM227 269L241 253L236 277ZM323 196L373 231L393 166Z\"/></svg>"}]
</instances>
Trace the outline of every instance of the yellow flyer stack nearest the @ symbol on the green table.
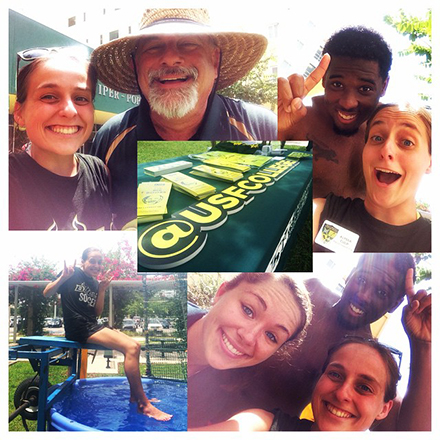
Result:
<instances>
[{"instance_id":1,"label":"yellow flyer stack nearest the @ symbol on the green table","mask_svg":"<svg viewBox=\"0 0 440 440\"><path fill-rule=\"evenodd\" d=\"M162 220L171 192L169 182L142 182L138 186L138 223Z\"/></svg>"}]
</instances>

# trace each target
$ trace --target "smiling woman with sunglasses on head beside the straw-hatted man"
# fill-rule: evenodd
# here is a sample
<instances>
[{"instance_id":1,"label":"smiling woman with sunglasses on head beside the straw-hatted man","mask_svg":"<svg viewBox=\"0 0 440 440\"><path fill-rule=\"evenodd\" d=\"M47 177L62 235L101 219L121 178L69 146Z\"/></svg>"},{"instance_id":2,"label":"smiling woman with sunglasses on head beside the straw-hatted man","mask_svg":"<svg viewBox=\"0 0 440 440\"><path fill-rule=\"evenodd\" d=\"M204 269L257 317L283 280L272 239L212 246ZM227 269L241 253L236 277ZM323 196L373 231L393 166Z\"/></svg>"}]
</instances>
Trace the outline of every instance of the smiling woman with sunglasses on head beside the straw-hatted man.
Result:
<instances>
[{"instance_id":1,"label":"smiling woman with sunglasses on head beside the straw-hatted man","mask_svg":"<svg viewBox=\"0 0 440 440\"><path fill-rule=\"evenodd\" d=\"M29 143L9 156L9 229L110 229L108 171L77 153L93 129L93 67L69 49L19 57L31 62L18 73L14 119Z\"/></svg>"}]
</instances>

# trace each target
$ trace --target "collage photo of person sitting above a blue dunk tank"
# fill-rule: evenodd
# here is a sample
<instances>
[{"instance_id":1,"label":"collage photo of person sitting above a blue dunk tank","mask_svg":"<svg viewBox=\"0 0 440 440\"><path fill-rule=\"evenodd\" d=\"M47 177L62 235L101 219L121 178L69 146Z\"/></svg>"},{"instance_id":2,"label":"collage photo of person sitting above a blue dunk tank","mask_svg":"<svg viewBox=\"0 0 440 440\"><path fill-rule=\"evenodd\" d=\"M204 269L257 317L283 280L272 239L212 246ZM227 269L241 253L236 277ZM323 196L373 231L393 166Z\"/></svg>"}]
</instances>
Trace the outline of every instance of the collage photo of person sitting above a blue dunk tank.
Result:
<instances>
[{"instance_id":1,"label":"collage photo of person sitting above a blue dunk tank","mask_svg":"<svg viewBox=\"0 0 440 440\"><path fill-rule=\"evenodd\" d=\"M14 243L9 431L186 431L186 273L139 275L129 232Z\"/></svg>"}]
</instances>

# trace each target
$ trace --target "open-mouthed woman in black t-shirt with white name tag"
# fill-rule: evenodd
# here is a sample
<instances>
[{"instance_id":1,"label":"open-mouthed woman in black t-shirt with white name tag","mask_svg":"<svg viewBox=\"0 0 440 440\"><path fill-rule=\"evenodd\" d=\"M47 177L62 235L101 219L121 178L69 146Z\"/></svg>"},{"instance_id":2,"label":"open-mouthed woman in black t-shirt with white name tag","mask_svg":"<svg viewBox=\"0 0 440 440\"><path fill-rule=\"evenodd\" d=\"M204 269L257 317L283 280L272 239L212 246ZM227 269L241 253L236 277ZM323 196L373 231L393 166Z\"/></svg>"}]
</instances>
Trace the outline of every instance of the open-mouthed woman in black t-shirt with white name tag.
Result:
<instances>
[{"instance_id":1,"label":"open-mouthed woman in black t-shirt with white name tag","mask_svg":"<svg viewBox=\"0 0 440 440\"><path fill-rule=\"evenodd\" d=\"M431 221L415 197L431 172L431 114L383 104L368 120L365 142L365 200L314 199L314 251L430 252Z\"/></svg>"}]
</instances>

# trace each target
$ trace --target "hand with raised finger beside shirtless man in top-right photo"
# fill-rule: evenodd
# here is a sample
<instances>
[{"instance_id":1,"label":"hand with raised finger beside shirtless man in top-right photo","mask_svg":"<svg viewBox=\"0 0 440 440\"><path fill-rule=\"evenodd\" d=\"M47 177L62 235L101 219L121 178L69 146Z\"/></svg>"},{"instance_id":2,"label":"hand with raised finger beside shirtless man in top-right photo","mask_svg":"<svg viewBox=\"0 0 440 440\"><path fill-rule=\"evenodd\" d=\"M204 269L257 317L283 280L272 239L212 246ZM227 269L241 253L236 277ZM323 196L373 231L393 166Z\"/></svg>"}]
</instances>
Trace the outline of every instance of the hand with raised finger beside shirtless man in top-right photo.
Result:
<instances>
[{"instance_id":1,"label":"hand with raised finger beside shirtless man in top-right photo","mask_svg":"<svg viewBox=\"0 0 440 440\"><path fill-rule=\"evenodd\" d=\"M324 77L330 64L330 55L324 54L318 67L304 79L294 73L289 78L278 78L278 131L292 128L306 114L302 100Z\"/></svg>"}]
</instances>

